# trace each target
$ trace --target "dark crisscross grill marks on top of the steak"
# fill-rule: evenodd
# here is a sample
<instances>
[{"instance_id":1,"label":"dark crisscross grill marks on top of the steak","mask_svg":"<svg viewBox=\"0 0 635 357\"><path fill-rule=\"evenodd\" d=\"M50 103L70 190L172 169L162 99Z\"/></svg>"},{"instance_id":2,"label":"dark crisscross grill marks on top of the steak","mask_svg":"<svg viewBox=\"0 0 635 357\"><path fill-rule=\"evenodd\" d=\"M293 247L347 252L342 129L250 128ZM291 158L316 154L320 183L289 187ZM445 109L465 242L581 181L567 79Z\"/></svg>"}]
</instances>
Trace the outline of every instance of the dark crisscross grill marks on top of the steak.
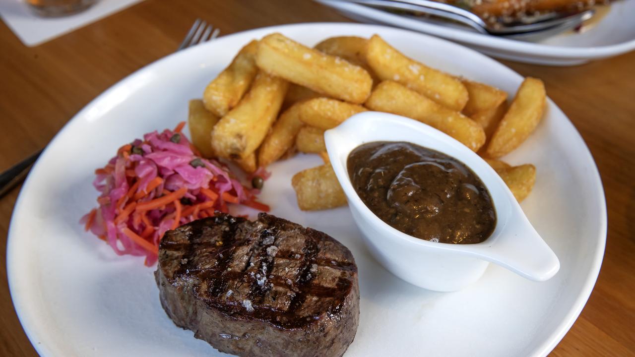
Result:
<instances>
[{"instance_id":1,"label":"dark crisscross grill marks on top of the steak","mask_svg":"<svg viewBox=\"0 0 635 357\"><path fill-rule=\"evenodd\" d=\"M207 306L222 311L234 318L256 319L288 329L300 328L307 323L311 323L314 318L317 318L319 313L323 312L312 311L312 313L307 316L300 316L300 314L298 314L298 310L302 308L309 296L332 299L328 311L330 313L337 313L345 297L351 291L351 281L340 276L333 287L312 284L312 281L314 281L316 277L316 271L312 271L312 269L315 269L315 267L318 267L318 269L319 267L330 267L341 271L342 273L340 274L344 274L345 272L356 273L357 267L354 262L317 257L319 253L318 239L332 240L332 238L322 232L308 228L305 229L304 246L302 246L300 250L279 249L276 255L271 257L267 254L267 248L276 245L279 239L279 232L277 231L279 227L276 225L280 224L280 222L286 222L284 224L290 222L262 214L258 218L259 221L262 221L262 224L265 225L264 229L254 236L253 231L259 229L259 227L251 227L251 230L248 229L248 232L246 232L242 239L236 238L239 224L250 224L251 222L222 213L218 213L215 217L186 225L190 226L187 232L187 243L175 243L170 241L170 239L162 239L161 249L182 250L184 251L183 259L187 259L187 262L181 264L177 271L175 271L173 278L187 279L187 276L195 275L201 281L208 281L210 285L206 292L197 291L195 287L194 293L199 299L204 300ZM206 223L202 223L201 221L206 221ZM203 236L203 227L212 222L215 225L224 226L222 237L220 238L220 242L222 243L220 245L217 244L218 242L214 243L210 239L200 239L200 237ZM295 224L293 225L297 226ZM267 241L270 237L273 237L271 242ZM240 271L228 271L231 263L236 259L235 253L237 248L243 246L250 246L245 266ZM194 255L196 255L196 252L201 248L217 251L216 263L207 269L199 269L196 264L196 259L194 259ZM274 260L277 258L300 262L300 266L298 267L299 273L295 274L293 278L284 278L277 275L274 275L273 278L269 278L269 276L272 275ZM254 262L257 262L257 265L251 266L251 263ZM256 267L256 270L254 270L253 267ZM262 274L263 272L265 272L265 274ZM252 275L251 273L254 274ZM262 285L258 285L256 274L261 274L262 277L267 278L266 282ZM291 284L288 283L289 280L291 280ZM250 300L251 311L248 311L249 309L244 306L244 300L224 299L225 295L227 295L229 284L237 281L248 284L249 286L245 299ZM295 293L286 310L262 305L267 294L276 286L287 288Z\"/></svg>"}]
</instances>

